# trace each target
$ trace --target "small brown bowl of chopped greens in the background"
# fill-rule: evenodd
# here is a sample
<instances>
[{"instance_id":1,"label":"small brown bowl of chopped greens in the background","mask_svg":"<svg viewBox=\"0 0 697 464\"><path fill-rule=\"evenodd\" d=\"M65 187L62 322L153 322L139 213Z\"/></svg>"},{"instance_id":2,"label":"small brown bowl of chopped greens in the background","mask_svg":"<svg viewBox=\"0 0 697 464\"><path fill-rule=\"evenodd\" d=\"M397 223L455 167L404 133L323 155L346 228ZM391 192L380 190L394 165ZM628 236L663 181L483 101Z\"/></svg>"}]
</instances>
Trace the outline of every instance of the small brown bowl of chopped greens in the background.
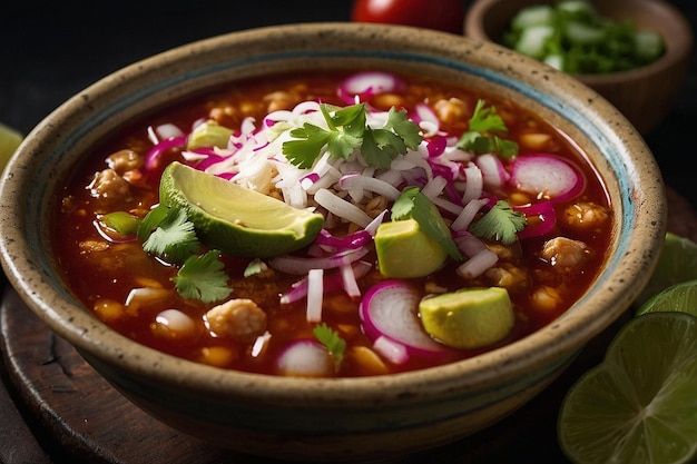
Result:
<instances>
[{"instance_id":1,"label":"small brown bowl of chopped greens in the background","mask_svg":"<svg viewBox=\"0 0 697 464\"><path fill-rule=\"evenodd\" d=\"M513 16L522 8L553 0L477 0L464 20L464 34L499 42ZM662 0L593 1L598 12L613 20L630 20L639 30L662 34L666 52L651 65L610 75L576 75L615 105L646 135L668 112L689 66L693 33L687 19Z\"/></svg>"}]
</instances>

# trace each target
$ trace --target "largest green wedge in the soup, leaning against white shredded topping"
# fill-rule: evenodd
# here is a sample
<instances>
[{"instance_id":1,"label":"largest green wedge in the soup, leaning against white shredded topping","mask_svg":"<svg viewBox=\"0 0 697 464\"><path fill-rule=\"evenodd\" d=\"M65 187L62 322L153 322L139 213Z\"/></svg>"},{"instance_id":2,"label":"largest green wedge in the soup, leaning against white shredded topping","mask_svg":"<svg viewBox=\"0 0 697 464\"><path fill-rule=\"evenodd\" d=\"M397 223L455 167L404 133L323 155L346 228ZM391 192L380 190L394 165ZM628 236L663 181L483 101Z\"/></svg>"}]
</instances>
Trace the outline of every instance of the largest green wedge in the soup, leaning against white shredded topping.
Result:
<instances>
[{"instance_id":1,"label":"largest green wedge in the soup, leaning against white shredded topping","mask_svg":"<svg viewBox=\"0 0 697 464\"><path fill-rule=\"evenodd\" d=\"M265 258L310 245L324 225L320 214L180 162L163 172L160 203L179 205L202 243L239 257Z\"/></svg>"}]
</instances>

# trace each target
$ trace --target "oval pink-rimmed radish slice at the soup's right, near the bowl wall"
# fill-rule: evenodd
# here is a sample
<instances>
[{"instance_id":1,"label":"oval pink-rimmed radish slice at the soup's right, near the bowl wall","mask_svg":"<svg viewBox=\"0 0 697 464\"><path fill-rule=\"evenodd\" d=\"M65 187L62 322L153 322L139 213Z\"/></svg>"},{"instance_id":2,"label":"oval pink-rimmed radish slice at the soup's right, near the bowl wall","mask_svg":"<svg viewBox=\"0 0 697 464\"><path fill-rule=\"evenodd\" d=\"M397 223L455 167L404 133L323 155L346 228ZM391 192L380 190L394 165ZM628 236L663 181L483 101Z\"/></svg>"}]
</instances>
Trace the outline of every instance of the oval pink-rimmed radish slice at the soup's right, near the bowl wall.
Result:
<instances>
[{"instance_id":1,"label":"oval pink-rimmed radish slice at the soup's right, near the bowl wall","mask_svg":"<svg viewBox=\"0 0 697 464\"><path fill-rule=\"evenodd\" d=\"M569 161L554 155L519 156L511 164L510 181L536 198L566 201L583 190L586 179Z\"/></svg>"}]
</instances>

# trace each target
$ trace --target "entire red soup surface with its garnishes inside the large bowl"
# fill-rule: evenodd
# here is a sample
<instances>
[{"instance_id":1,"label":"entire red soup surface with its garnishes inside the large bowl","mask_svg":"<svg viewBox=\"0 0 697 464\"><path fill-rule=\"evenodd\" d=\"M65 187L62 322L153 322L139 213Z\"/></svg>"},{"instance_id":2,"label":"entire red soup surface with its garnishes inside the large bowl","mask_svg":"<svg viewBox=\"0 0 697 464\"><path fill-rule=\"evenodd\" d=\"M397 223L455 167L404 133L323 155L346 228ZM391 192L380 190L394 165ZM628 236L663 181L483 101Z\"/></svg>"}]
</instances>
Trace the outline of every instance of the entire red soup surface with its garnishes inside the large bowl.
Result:
<instances>
[{"instance_id":1,"label":"entire red soup surface with its garnishes inside the large bowl","mask_svg":"<svg viewBox=\"0 0 697 464\"><path fill-rule=\"evenodd\" d=\"M222 253L192 216L218 200L160 205L173 166L180 189L200 190L193 168L322 228L265 256L278 218L259 211L271 235L252 256ZM160 109L95 147L58 200L65 280L115 330L223 368L344 377L451 363L549 324L598 275L612 214L581 149L516 102L377 71L240 81ZM391 221L412 237L387 237ZM468 288L504 292L482 292L492 306Z\"/></svg>"}]
</instances>

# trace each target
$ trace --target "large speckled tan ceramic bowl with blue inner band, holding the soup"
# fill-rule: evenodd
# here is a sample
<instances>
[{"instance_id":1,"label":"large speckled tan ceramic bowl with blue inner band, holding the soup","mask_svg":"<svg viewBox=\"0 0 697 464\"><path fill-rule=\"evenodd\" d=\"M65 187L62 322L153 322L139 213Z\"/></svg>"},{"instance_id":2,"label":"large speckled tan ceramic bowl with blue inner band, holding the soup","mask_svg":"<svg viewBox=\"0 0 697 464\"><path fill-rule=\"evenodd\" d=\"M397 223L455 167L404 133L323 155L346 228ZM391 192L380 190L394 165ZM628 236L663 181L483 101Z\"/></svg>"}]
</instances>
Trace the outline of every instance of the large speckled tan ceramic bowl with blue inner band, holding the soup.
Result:
<instances>
[{"instance_id":1,"label":"large speckled tan ceramic bowl with blue inner band, holding the soup","mask_svg":"<svg viewBox=\"0 0 697 464\"><path fill-rule=\"evenodd\" d=\"M367 378L244 374L163 355L96 320L65 287L49 198L119 125L208 86L278 70L371 63L498 92L567 132L605 178L611 253L592 288L548 327L443 367ZM298 461L375 460L487 427L540 393L646 284L666 226L659 169L613 107L563 73L492 43L402 27L315 23L236 32L135 63L79 92L28 135L0 184L0 251L27 305L143 409L216 445Z\"/></svg>"}]
</instances>

